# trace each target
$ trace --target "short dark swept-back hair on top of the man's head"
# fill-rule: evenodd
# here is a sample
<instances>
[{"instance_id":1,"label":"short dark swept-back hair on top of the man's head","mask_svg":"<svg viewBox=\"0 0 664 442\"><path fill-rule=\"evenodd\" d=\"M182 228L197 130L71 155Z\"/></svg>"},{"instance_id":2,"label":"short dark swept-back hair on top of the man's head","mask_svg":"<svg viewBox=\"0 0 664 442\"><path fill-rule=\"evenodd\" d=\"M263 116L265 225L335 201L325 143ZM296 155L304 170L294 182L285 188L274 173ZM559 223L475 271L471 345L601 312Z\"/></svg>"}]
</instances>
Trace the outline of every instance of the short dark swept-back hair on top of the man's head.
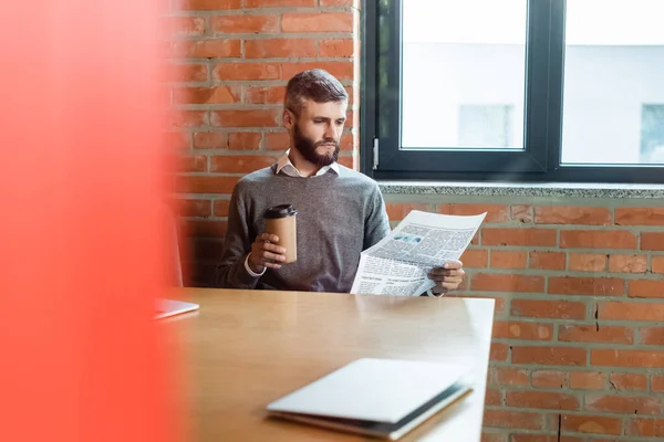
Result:
<instances>
[{"instance_id":1,"label":"short dark swept-back hair on top of the man's head","mask_svg":"<svg viewBox=\"0 0 664 442\"><path fill-rule=\"evenodd\" d=\"M328 71L313 69L300 72L289 80L283 106L299 116L305 99L315 103L347 102L349 94Z\"/></svg>"}]
</instances>

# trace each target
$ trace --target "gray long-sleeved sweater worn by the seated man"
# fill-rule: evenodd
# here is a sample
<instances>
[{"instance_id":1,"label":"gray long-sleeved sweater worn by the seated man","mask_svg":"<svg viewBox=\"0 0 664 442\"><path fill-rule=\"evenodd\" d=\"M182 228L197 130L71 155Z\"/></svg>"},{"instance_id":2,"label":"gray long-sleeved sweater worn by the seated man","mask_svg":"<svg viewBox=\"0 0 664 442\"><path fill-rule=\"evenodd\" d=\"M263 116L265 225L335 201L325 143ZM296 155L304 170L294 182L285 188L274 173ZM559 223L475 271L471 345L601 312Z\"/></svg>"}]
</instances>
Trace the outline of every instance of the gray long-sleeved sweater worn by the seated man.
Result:
<instances>
[{"instance_id":1,"label":"gray long-sleeved sweater worn by the seated man","mask_svg":"<svg viewBox=\"0 0 664 442\"><path fill-rule=\"evenodd\" d=\"M340 167L319 177L276 175L276 166L245 176L234 189L228 231L215 285L226 288L349 293L360 253L390 233L385 204L371 178ZM245 269L263 213L277 204L298 210L298 261L260 277Z\"/></svg>"}]
</instances>

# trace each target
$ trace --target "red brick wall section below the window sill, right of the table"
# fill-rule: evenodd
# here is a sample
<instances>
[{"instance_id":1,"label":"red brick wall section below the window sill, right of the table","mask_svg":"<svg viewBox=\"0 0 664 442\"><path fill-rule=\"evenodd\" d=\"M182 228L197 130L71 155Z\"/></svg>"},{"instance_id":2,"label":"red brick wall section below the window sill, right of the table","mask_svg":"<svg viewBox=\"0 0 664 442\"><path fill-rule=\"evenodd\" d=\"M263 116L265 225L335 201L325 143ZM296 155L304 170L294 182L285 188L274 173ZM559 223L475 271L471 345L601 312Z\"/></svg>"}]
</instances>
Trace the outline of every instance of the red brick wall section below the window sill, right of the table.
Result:
<instances>
[{"instance_id":1,"label":"red brick wall section below the window sill, right of the table","mask_svg":"<svg viewBox=\"0 0 664 442\"><path fill-rule=\"evenodd\" d=\"M488 212L461 259L461 294L497 299L486 441L664 438L664 209L643 200L385 199L395 223L413 209Z\"/></svg>"}]
</instances>

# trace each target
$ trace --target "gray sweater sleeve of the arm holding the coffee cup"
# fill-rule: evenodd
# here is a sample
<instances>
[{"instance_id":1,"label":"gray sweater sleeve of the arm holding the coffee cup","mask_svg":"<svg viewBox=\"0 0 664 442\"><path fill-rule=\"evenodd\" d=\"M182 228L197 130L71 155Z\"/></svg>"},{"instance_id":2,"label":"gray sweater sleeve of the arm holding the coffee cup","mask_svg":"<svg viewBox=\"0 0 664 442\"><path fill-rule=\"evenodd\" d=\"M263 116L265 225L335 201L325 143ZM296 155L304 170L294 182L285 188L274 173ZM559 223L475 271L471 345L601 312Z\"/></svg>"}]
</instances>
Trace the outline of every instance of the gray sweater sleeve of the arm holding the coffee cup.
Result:
<instances>
[{"instance_id":1,"label":"gray sweater sleeve of the arm holding the coffee cup","mask_svg":"<svg viewBox=\"0 0 664 442\"><path fill-rule=\"evenodd\" d=\"M228 208L228 229L224 240L221 261L215 272L215 286L220 288L256 288L259 276L251 276L245 260L251 252L256 232L249 225L240 186L236 186Z\"/></svg>"}]
</instances>

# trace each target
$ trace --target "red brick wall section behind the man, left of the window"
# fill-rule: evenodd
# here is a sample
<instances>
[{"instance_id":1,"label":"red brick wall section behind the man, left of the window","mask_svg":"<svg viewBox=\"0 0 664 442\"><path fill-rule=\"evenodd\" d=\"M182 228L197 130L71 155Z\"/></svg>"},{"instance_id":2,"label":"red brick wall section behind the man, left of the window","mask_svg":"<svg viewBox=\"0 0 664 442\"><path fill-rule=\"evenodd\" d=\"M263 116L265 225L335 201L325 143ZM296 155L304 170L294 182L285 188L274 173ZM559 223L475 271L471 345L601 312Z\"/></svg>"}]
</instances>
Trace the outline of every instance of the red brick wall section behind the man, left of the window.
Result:
<instances>
[{"instance_id":1,"label":"red brick wall section behind the man, left of the window","mask_svg":"<svg viewBox=\"0 0 664 442\"><path fill-rule=\"evenodd\" d=\"M283 86L322 67L351 97L340 162L356 167L359 0L173 0L168 18L175 183L193 272L210 281L237 180L288 148Z\"/></svg>"}]
</instances>

